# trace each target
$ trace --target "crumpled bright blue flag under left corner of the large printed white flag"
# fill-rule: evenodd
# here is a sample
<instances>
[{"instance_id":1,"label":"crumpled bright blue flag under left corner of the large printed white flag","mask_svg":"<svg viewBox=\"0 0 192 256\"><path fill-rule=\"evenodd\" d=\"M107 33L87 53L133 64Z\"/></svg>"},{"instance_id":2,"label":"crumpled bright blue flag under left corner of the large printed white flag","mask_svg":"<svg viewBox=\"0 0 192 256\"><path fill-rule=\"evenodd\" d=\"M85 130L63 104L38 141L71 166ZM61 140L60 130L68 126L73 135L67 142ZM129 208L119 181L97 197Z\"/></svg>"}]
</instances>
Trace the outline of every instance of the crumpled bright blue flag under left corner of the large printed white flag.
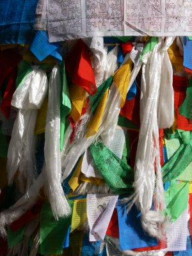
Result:
<instances>
[{"instance_id":1,"label":"crumpled bright blue flag under left corner of the large printed white flag","mask_svg":"<svg viewBox=\"0 0 192 256\"><path fill-rule=\"evenodd\" d=\"M60 44L49 43L46 31L36 31L30 50L39 61L44 60L49 55L53 56L58 61L62 61Z\"/></svg>"}]
</instances>

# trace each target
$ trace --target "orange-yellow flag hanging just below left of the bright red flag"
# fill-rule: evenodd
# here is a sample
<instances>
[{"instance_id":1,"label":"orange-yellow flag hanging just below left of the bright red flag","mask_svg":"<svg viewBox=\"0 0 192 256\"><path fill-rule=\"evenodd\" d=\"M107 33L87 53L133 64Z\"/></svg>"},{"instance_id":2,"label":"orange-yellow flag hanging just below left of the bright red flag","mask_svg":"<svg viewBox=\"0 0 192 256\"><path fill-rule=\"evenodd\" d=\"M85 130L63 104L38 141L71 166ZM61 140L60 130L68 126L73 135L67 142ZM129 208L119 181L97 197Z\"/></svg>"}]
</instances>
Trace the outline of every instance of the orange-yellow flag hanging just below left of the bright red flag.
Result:
<instances>
[{"instance_id":1,"label":"orange-yellow flag hanging just below left of the bright red flag","mask_svg":"<svg viewBox=\"0 0 192 256\"><path fill-rule=\"evenodd\" d=\"M72 109L70 115L72 116L74 122L77 122L81 117L81 112L85 103L86 92L81 86L76 84L70 84L69 86L70 100L72 101Z\"/></svg>"}]
</instances>

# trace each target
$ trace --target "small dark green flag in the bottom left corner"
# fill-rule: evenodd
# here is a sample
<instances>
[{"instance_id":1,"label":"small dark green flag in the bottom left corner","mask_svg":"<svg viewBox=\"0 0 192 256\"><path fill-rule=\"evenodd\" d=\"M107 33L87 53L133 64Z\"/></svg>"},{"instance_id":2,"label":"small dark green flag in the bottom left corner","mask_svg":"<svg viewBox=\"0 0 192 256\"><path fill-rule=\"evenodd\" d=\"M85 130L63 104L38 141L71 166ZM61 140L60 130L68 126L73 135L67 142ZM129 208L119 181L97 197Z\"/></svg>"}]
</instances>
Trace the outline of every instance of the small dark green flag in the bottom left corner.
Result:
<instances>
[{"instance_id":1,"label":"small dark green flag in the bottom left corner","mask_svg":"<svg viewBox=\"0 0 192 256\"><path fill-rule=\"evenodd\" d=\"M12 248L16 244L19 244L24 237L24 232L26 230L26 226L18 228L17 230L12 230L11 227L8 227L8 248Z\"/></svg>"}]
</instances>

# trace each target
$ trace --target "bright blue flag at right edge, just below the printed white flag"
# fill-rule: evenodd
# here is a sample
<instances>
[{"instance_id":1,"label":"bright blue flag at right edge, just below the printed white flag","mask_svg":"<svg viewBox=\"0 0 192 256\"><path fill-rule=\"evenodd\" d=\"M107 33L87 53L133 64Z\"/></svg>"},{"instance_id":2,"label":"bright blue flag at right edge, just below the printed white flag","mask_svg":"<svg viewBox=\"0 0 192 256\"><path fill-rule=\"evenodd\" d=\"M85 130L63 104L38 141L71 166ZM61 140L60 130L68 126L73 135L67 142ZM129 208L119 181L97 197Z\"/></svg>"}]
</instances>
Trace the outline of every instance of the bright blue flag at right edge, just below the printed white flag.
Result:
<instances>
[{"instance_id":1,"label":"bright blue flag at right edge, just below the printed white flag","mask_svg":"<svg viewBox=\"0 0 192 256\"><path fill-rule=\"evenodd\" d=\"M186 68L192 69L192 41L188 36L183 36L184 62Z\"/></svg>"}]
</instances>

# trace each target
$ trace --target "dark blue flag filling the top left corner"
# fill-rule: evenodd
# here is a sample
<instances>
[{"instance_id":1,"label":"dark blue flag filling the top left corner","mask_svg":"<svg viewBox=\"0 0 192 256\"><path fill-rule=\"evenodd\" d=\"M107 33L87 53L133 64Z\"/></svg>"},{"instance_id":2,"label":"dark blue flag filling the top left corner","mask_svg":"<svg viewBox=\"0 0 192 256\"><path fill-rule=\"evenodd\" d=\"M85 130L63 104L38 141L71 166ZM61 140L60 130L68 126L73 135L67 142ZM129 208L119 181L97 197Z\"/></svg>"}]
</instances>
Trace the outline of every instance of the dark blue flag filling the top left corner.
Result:
<instances>
[{"instance_id":1,"label":"dark blue flag filling the top left corner","mask_svg":"<svg viewBox=\"0 0 192 256\"><path fill-rule=\"evenodd\" d=\"M1 0L0 44L29 44L38 0Z\"/></svg>"}]
</instances>

